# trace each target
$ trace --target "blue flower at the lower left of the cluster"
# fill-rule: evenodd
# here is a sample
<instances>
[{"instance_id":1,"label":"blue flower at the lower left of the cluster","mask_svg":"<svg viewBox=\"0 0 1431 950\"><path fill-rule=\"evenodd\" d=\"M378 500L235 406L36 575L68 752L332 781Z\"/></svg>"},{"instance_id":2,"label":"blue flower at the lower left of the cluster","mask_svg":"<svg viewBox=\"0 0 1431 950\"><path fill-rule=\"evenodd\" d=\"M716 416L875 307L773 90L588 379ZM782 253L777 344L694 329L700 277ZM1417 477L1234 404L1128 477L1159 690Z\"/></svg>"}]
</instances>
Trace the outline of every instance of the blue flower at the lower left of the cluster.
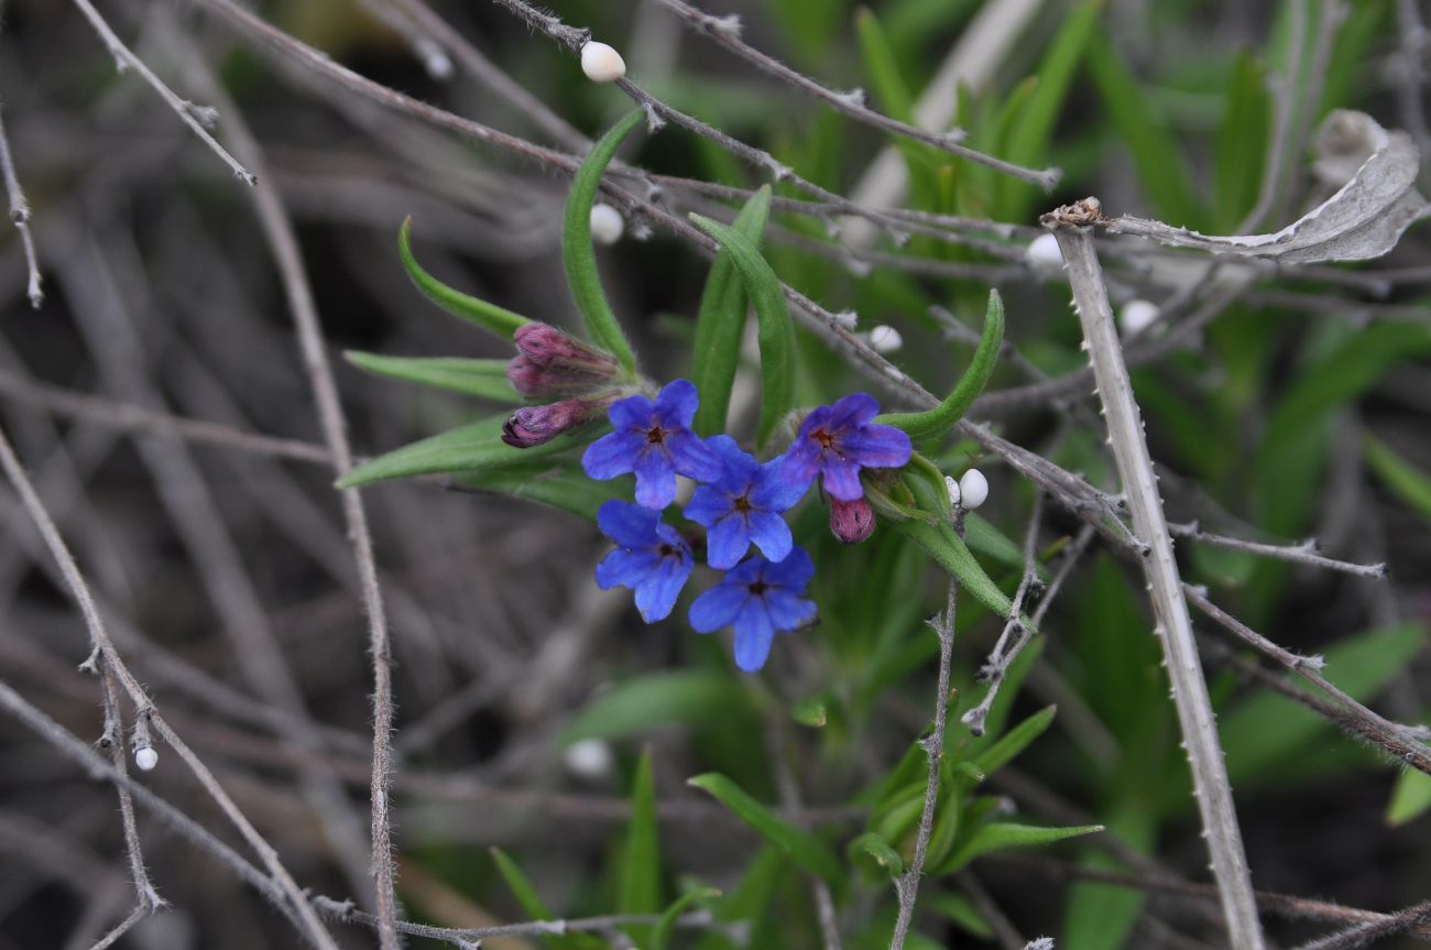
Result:
<instances>
[{"instance_id":1,"label":"blue flower at the lower left of the cluster","mask_svg":"<svg viewBox=\"0 0 1431 950\"><path fill-rule=\"evenodd\" d=\"M635 608L648 624L670 617L695 567L685 539L661 524L660 512L624 501L604 504L597 511L597 527L617 542L617 549L597 565L597 587L635 591Z\"/></svg>"}]
</instances>

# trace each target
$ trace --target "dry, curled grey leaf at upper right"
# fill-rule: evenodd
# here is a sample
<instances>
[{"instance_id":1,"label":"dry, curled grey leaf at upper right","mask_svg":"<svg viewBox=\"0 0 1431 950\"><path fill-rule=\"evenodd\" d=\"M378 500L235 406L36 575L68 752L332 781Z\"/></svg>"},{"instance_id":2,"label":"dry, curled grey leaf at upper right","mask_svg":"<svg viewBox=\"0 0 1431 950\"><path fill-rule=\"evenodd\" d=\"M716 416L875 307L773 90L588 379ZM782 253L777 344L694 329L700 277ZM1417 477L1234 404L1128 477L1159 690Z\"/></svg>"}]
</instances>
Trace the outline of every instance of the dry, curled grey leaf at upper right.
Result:
<instances>
[{"instance_id":1,"label":"dry, curled grey leaf at upper right","mask_svg":"<svg viewBox=\"0 0 1431 950\"><path fill-rule=\"evenodd\" d=\"M1108 229L1171 248L1268 258L1281 263L1379 258L1397 246L1412 222L1428 213L1427 199L1415 189L1420 152L1410 134L1387 132L1365 113L1338 110L1327 123L1337 123L1345 134L1364 139L1372 149L1371 157L1335 195L1274 235L1209 238L1130 216L1109 222Z\"/></svg>"}]
</instances>

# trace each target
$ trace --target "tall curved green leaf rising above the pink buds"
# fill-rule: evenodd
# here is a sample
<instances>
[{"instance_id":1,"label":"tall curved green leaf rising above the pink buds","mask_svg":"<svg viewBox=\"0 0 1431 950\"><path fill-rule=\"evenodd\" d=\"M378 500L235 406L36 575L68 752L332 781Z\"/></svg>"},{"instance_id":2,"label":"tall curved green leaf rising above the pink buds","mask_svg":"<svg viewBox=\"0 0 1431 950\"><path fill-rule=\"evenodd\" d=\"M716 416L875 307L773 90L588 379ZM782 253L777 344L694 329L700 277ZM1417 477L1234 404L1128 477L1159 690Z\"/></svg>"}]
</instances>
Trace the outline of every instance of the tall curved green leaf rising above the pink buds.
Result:
<instances>
[{"instance_id":1,"label":"tall curved green leaf rising above the pink buds","mask_svg":"<svg viewBox=\"0 0 1431 950\"><path fill-rule=\"evenodd\" d=\"M587 332L601 349L615 356L628 371L635 369L635 353L631 352L631 343L621 332L617 315L611 312L605 290L601 289L597 252L591 246L591 205L597 200L601 175L640 120L641 113L633 112L591 146L591 153L571 182L567 216L561 226L561 263L567 269L567 283L571 285L571 296L577 300Z\"/></svg>"}]
</instances>

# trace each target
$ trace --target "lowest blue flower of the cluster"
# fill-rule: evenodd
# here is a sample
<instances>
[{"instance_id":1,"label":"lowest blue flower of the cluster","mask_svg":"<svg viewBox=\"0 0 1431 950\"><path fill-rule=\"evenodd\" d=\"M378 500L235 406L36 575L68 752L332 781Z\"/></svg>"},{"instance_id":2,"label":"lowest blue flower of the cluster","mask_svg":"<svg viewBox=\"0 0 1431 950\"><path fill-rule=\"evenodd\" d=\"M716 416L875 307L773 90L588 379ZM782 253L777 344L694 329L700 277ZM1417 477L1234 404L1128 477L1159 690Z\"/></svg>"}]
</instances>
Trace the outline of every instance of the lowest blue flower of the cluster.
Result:
<instances>
[{"instance_id":1,"label":"lowest blue flower of the cluster","mask_svg":"<svg viewBox=\"0 0 1431 950\"><path fill-rule=\"evenodd\" d=\"M814 564L804 548L791 548L783 561L758 554L691 604L691 627L710 634L736 627L736 665L756 672L770 657L776 631L794 630L814 617L814 602L801 597Z\"/></svg>"}]
</instances>

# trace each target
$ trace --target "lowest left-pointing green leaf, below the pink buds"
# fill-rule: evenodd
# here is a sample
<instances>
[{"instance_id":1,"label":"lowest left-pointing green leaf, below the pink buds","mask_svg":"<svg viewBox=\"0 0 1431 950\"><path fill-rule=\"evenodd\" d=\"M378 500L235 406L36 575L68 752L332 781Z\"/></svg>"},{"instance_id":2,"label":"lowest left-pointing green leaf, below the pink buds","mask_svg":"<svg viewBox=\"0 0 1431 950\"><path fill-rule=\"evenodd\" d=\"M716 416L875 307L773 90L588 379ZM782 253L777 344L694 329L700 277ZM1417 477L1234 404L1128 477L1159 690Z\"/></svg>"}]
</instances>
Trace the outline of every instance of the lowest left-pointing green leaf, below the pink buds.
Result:
<instances>
[{"instance_id":1,"label":"lowest left-pointing green leaf, below the pink buds","mask_svg":"<svg viewBox=\"0 0 1431 950\"><path fill-rule=\"evenodd\" d=\"M348 472L338 482L338 486L356 488L409 475L475 472L519 465L591 441L590 432L587 435L561 435L545 445L517 449L502 442L502 423L505 421L505 416L482 419L448 429L421 442L404 445L401 449L379 455Z\"/></svg>"}]
</instances>

